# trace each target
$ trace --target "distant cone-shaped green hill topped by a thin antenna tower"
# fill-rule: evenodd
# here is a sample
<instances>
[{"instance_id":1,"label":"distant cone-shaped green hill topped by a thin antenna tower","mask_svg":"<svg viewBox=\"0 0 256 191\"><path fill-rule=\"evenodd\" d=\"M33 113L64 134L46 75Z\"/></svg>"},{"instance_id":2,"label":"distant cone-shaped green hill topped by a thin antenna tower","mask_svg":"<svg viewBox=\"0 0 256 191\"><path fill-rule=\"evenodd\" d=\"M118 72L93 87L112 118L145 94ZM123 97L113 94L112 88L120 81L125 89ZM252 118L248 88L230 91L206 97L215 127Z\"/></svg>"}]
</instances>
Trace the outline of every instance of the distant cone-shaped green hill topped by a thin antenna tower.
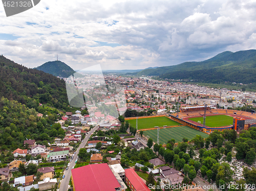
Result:
<instances>
[{"instance_id":1,"label":"distant cone-shaped green hill topped by a thin antenna tower","mask_svg":"<svg viewBox=\"0 0 256 191\"><path fill-rule=\"evenodd\" d=\"M59 60L46 62L36 67L35 69L44 71L48 74L52 74L53 76L59 76L63 78L68 78L75 73L75 71L70 66Z\"/></svg>"}]
</instances>

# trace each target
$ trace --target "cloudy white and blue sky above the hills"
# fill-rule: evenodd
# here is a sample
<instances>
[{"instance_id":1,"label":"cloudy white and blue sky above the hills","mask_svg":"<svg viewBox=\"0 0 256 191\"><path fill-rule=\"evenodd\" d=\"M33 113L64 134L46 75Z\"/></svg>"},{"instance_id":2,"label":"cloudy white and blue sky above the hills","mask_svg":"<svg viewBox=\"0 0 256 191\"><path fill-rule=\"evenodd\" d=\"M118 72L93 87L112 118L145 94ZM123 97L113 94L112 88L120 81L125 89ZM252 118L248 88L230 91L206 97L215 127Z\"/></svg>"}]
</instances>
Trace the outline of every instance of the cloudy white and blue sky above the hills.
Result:
<instances>
[{"instance_id":1,"label":"cloudy white and blue sky above the hills","mask_svg":"<svg viewBox=\"0 0 256 191\"><path fill-rule=\"evenodd\" d=\"M119 70L249 49L256 49L256 1L41 0L10 17L0 5L0 54L30 68L57 54L75 70Z\"/></svg>"}]
</instances>

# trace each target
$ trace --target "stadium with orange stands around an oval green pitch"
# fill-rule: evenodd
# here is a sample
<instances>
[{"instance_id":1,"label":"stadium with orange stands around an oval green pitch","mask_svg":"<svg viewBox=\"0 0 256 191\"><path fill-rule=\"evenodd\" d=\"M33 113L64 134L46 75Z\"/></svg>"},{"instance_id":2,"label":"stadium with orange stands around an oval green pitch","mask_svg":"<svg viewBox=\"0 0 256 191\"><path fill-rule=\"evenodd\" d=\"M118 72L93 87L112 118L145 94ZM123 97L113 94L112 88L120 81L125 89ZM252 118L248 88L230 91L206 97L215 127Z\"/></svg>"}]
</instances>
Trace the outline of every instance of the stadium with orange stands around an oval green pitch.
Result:
<instances>
[{"instance_id":1,"label":"stadium with orange stands around an oval green pitch","mask_svg":"<svg viewBox=\"0 0 256 191\"><path fill-rule=\"evenodd\" d=\"M170 118L180 124L210 134L218 130L235 129L238 132L256 127L256 114L231 109L214 109L212 105L186 106L179 113L170 114ZM204 124L205 116L205 124Z\"/></svg>"}]
</instances>

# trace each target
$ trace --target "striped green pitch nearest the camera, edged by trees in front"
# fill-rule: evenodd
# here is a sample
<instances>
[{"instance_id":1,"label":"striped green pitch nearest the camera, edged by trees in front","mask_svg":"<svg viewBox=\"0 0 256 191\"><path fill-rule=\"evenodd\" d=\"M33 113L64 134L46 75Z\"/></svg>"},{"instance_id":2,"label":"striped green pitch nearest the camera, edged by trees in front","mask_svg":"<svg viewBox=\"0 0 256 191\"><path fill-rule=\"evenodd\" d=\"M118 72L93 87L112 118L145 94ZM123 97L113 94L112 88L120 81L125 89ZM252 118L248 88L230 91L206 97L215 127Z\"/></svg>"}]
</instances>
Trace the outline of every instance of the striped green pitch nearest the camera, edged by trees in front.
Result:
<instances>
[{"instance_id":1,"label":"striped green pitch nearest the camera, edged by trees in front","mask_svg":"<svg viewBox=\"0 0 256 191\"><path fill-rule=\"evenodd\" d=\"M157 142L157 129L147 130L143 132L143 135L150 136L154 142ZM182 142L182 138L187 138L188 140L193 139L196 135L201 135L206 138L209 135L193 129L188 126L180 126L180 127L171 127L166 129L160 129L159 131L159 143L167 144L167 141L174 138L175 142Z\"/></svg>"}]
</instances>

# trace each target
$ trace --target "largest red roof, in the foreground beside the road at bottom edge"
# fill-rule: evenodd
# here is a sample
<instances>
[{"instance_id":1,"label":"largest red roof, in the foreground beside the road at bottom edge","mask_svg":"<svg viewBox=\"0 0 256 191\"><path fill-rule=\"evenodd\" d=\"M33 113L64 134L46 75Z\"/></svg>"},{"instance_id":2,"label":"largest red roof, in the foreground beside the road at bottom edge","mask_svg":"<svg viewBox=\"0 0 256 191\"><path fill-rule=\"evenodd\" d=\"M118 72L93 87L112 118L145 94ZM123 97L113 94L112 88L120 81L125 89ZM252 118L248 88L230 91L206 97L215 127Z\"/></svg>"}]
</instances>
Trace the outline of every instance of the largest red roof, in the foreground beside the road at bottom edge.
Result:
<instances>
[{"instance_id":1,"label":"largest red roof, in the foreground beside the road at bottom edge","mask_svg":"<svg viewBox=\"0 0 256 191\"><path fill-rule=\"evenodd\" d=\"M76 191L115 191L121 187L107 163L89 164L71 172Z\"/></svg>"}]
</instances>

